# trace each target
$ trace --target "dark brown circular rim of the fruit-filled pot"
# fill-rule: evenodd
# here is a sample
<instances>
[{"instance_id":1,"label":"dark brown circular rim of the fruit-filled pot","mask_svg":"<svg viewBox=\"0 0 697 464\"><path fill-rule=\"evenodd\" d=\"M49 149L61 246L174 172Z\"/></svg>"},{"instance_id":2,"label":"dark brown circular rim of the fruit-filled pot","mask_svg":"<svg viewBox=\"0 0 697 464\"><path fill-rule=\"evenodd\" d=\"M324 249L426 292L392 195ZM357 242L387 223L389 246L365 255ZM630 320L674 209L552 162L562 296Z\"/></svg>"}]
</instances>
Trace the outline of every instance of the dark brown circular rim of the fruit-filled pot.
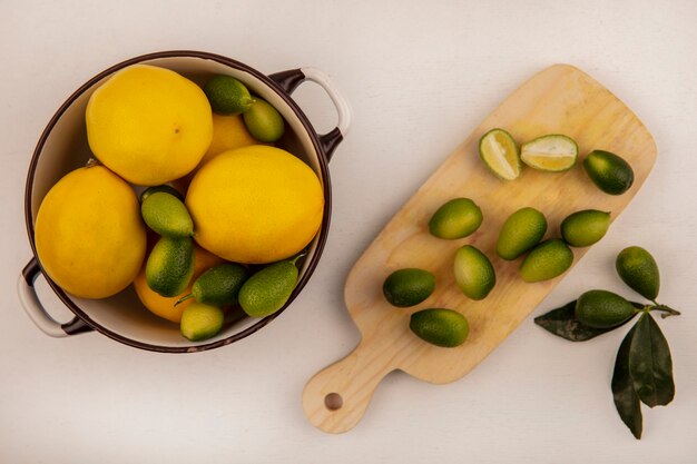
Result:
<instances>
[{"instance_id":1,"label":"dark brown circular rim of the fruit-filled pot","mask_svg":"<svg viewBox=\"0 0 697 464\"><path fill-rule=\"evenodd\" d=\"M143 61L159 59L159 58L200 58L200 59L217 61L230 68L245 71L254 76L255 78L257 78L268 88L273 89L275 93L277 93L278 97L281 97L281 99L283 99L283 101L286 105L288 105L288 107L293 110L294 115L298 118L298 120L303 125L303 128L310 136L313 148L315 152L317 154L317 162L320 165L320 171L322 174L322 184L323 184L323 190L324 190L324 216L322 219L322 226L320 227L320 230L317 231L317 236L316 236L317 245L315 248L315 253L310 259L310 261L307 263L305 272L303 273L302 277L298 279L286 304L276 313L257 320L256 323L254 323L253 325L251 325L249 327L245 328L242 332L237 332L226 338L223 338L216 342L212 342L207 344L204 343L204 344L194 345L194 346L161 346L161 345L149 344L149 343L136 340L127 336L124 336L121 334L118 334L114 330L110 330L104 327L99 323L95 322L79 306L77 306L72 302L72 299L70 299L70 297L66 294L66 292L62 288L60 288L43 270L43 267L41 266L41 261L38 258L36 240L35 240L33 215L31 211L31 195L33 190L33 177L35 177L35 172L38 166L39 158L43 150L43 146L48 137L50 136L51 131L53 130L56 124L58 122L58 120L62 117L66 110L75 102L75 100L78 99L78 97L80 97L87 90L92 88L98 81L100 81L105 77L125 67L136 65ZM87 326L108 336L111 339L115 339L128 346L132 346L132 347L140 348L140 349L146 349L150 352L158 352L158 353L197 353L197 352L203 352L203 351L229 345L234 342L240 340L256 333L257 330L262 329L263 327L272 323L276 317L278 317L293 303L293 300L297 297L297 295L302 292L302 289L305 287L305 285L310 280L310 277L314 273L315 268L317 267L317 264L322 256L322 251L324 249L324 245L326 244L327 233L330 228L331 211L332 211L332 188L331 188L332 185L331 185L331 179L330 179L330 170L328 170L327 161L328 161L327 155L323 145L320 141L320 136L317 135L315 129L312 127L312 124L310 122L310 119L307 118L305 112L300 108L300 106L295 102L295 100L293 100L293 98L291 97L291 92L287 92L272 78L262 73L261 71L257 71L256 69L249 67L248 65L245 65L240 61L234 60L232 58L227 58L222 55L210 53L207 51L197 51L197 50L156 51L156 52L129 58L127 60L124 60L97 73L95 77L92 77L82 86L80 86L76 91L73 91L72 95L70 95L70 97L68 97L68 99L66 99L66 101L58 108L56 113L51 117L46 128L41 132L41 137L39 138L39 141L37 142L37 146L33 150L33 155L31 157L31 161L29 164L29 170L27 172L27 181L26 181L26 187L24 187L24 220L27 225L27 234L29 236L31 251L35 258L37 259L38 265L41 268L41 274L48 282L53 293L68 307L68 309L70 309L70 312L72 312L77 317L79 317Z\"/></svg>"}]
</instances>

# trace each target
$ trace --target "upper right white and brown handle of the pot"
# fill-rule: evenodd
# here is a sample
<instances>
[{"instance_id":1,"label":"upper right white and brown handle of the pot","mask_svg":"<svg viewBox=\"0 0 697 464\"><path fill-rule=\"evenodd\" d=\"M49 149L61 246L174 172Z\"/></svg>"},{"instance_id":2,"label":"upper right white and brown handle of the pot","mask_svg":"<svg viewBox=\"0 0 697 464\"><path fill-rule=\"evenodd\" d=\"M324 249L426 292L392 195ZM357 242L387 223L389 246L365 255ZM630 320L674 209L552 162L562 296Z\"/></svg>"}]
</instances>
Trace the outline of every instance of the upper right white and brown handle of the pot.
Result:
<instances>
[{"instance_id":1,"label":"upper right white and brown handle of the pot","mask_svg":"<svg viewBox=\"0 0 697 464\"><path fill-rule=\"evenodd\" d=\"M278 83L288 95L293 93L293 91L301 83L310 80L322 87L330 96L330 99L336 108L338 121L336 122L336 127L334 129L327 134L320 135L320 142L322 144L322 148L324 149L328 161L332 158L332 154L343 140L344 136L348 132L348 128L351 127L352 111L348 106L348 101L344 98L342 92L334 87L330 76L317 68L307 67L291 69L287 71L276 72L268 77L276 81L276 83Z\"/></svg>"}]
</instances>

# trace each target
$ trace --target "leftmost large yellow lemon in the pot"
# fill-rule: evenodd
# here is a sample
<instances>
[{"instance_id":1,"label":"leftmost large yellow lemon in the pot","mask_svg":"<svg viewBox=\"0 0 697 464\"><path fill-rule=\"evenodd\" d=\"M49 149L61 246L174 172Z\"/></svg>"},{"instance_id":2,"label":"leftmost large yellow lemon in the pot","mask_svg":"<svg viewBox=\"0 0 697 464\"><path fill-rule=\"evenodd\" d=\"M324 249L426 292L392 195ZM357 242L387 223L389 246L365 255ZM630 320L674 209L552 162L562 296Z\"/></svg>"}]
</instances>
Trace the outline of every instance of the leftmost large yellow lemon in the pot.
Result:
<instances>
[{"instance_id":1,"label":"leftmost large yellow lemon in the pot","mask_svg":"<svg viewBox=\"0 0 697 464\"><path fill-rule=\"evenodd\" d=\"M106 298L138 275L146 249L130 186L104 166L79 168L46 195L35 225L43 270L66 292Z\"/></svg>"}]
</instances>

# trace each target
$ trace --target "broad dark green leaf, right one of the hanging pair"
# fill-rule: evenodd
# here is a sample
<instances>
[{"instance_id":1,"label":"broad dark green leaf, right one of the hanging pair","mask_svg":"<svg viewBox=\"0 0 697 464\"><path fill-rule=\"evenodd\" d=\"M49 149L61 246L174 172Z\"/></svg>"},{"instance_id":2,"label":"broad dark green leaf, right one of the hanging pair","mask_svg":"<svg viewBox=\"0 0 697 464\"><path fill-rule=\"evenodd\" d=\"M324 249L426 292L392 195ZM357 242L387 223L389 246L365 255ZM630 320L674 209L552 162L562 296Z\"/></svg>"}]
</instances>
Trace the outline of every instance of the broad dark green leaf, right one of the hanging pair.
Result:
<instances>
[{"instance_id":1,"label":"broad dark green leaf, right one of the hanging pair","mask_svg":"<svg viewBox=\"0 0 697 464\"><path fill-rule=\"evenodd\" d=\"M641 315L635 328L629 349L635 389L647 406L665 406L675 396L668 342L649 313Z\"/></svg>"}]
</instances>

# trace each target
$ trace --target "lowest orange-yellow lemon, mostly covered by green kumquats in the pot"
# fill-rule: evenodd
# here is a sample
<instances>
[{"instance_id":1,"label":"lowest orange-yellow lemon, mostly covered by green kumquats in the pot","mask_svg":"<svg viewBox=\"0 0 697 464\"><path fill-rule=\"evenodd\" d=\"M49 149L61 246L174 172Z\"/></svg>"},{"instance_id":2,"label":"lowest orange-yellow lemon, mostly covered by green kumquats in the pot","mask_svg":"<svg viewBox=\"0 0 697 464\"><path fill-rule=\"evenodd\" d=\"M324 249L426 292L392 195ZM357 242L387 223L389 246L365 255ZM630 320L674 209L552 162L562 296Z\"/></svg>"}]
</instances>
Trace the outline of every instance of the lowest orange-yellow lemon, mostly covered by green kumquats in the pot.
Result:
<instances>
[{"instance_id":1,"label":"lowest orange-yellow lemon, mostly covered by green kumquats in the pot","mask_svg":"<svg viewBox=\"0 0 697 464\"><path fill-rule=\"evenodd\" d=\"M192 285L194 285L194 282L198 278L198 276L200 276L205 270L222 263L224 263L223 258L219 258L206 251L205 249L195 246L194 275L192 276L189 286L186 287L186 289L180 295L168 298L165 296L160 296L159 294L150 289L145 277L145 266L143 266L140 273L134 280L134 287L136 289L136 293L138 294L138 298L140 298L140 302L146 308L148 308L156 315L164 317L167 320L178 323L181 320L181 313L184 313L184 309L186 309L188 305L194 303L194 299L186 299L177 306L175 306L175 303L177 303L177 300L183 296L192 293Z\"/></svg>"}]
</instances>

